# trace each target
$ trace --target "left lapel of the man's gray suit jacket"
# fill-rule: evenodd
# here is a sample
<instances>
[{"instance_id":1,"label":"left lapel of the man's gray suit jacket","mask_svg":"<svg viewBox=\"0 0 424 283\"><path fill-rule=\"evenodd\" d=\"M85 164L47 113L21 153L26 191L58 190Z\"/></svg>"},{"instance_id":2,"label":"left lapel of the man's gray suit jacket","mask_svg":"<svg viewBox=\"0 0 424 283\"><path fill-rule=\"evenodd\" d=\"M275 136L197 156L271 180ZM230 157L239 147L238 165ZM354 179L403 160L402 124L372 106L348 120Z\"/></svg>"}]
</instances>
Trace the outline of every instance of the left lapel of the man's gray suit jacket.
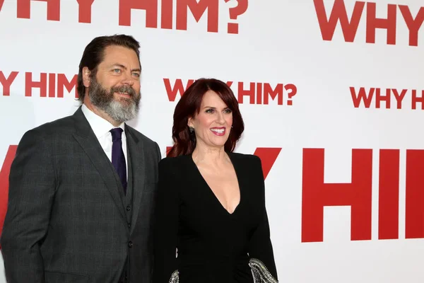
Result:
<instances>
[{"instance_id":1,"label":"left lapel of the man's gray suit jacket","mask_svg":"<svg viewBox=\"0 0 424 283\"><path fill-rule=\"evenodd\" d=\"M117 208L126 223L124 205L122 204L122 199L119 196L118 184L114 177L115 174L112 163L110 163L105 151L103 151L102 146L100 146L98 139L95 137L95 134L86 120L81 107L78 108L73 117L76 120L77 129L77 132L76 134L73 134L73 137L81 145L87 156L90 158L90 161L93 163L93 166L99 172L105 182L107 190L109 190L112 199L117 205Z\"/></svg>"}]
</instances>

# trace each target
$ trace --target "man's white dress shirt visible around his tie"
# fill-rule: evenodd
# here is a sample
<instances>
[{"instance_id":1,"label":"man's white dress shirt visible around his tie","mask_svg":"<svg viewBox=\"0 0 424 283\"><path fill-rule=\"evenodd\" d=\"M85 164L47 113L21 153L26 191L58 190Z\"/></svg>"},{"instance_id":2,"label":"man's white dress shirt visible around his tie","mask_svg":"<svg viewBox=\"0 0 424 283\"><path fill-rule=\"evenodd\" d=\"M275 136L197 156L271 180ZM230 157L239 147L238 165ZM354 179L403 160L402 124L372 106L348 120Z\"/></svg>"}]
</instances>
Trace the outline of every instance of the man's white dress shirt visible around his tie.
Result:
<instances>
[{"instance_id":1,"label":"man's white dress shirt visible around his tie","mask_svg":"<svg viewBox=\"0 0 424 283\"><path fill-rule=\"evenodd\" d=\"M103 151L105 151L105 154L109 158L110 162L112 162L112 133L109 131L117 127L114 127L114 125L110 124L110 122L88 109L85 104L82 105L81 110L83 110L84 116L86 116L91 129L93 129L95 137L98 138L100 146L102 146ZM126 136L124 123L119 125L119 127L123 130L122 151L124 151L126 163L126 180L128 180L128 158L126 158Z\"/></svg>"}]
</instances>

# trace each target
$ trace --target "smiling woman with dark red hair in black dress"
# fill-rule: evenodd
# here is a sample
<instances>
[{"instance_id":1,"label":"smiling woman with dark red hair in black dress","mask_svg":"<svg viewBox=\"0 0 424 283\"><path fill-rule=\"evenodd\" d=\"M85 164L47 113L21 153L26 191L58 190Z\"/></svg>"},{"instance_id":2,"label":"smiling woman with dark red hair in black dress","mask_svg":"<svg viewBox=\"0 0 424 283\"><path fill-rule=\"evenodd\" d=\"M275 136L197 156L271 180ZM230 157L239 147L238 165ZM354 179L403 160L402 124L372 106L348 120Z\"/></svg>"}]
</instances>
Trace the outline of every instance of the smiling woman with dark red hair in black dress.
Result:
<instances>
[{"instance_id":1,"label":"smiling woman with dark red hair in black dress","mask_svg":"<svg viewBox=\"0 0 424 283\"><path fill-rule=\"evenodd\" d=\"M232 153L243 130L222 81L199 79L179 100L159 164L154 283L277 282L261 161Z\"/></svg>"}]
</instances>

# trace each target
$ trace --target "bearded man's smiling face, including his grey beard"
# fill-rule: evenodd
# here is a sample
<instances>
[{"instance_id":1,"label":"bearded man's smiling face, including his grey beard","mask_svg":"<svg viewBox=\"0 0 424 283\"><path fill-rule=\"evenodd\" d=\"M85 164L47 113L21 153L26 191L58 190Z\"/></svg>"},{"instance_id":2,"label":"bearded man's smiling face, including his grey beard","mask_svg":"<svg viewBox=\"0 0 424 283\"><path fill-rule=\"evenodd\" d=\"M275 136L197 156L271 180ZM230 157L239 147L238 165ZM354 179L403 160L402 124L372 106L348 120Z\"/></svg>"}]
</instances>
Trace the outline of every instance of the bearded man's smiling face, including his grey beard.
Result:
<instances>
[{"instance_id":1,"label":"bearded man's smiling face, including his grey beard","mask_svg":"<svg viewBox=\"0 0 424 283\"><path fill-rule=\"evenodd\" d=\"M105 48L103 61L90 79L91 103L122 123L139 112L140 64L136 52L122 46Z\"/></svg>"}]
</instances>

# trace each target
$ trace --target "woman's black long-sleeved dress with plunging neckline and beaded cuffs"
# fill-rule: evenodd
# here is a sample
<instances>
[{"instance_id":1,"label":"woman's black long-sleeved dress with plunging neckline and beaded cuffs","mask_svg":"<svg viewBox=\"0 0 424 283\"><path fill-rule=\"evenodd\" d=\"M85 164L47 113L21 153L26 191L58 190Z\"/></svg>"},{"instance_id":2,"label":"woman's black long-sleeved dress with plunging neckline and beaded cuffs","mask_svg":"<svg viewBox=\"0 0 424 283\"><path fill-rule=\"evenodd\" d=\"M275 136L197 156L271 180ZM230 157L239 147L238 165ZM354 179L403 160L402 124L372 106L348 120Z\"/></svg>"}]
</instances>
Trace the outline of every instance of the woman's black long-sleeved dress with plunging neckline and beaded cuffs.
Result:
<instances>
[{"instance_id":1,"label":"woman's black long-sleeved dress with plunging neckline and beaded cuffs","mask_svg":"<svg viewBox=\"0 0 424 283\"><path fill-rule=\"evenodd\" d=\"M153 283L277 282L261 160L227 154L240 187L232 214L191 155L160 161Z\"/></svg>"}]
</instances>

